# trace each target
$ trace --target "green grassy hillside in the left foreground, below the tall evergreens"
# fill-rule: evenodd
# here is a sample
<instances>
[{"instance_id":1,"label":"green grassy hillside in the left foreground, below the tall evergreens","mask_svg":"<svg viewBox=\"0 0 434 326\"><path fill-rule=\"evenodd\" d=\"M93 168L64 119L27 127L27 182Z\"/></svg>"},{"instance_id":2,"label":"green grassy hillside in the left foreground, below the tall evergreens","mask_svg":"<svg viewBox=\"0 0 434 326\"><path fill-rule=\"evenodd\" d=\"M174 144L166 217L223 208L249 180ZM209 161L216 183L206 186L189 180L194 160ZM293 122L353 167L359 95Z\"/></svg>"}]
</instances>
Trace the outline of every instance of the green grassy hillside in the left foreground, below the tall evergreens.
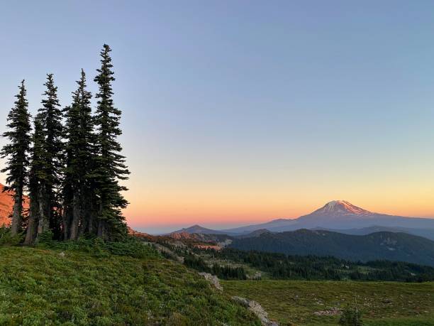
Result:
<instances>
[{"instance_id":1,"label":"green grassy hillside in the left foreground, below the tall evergreens","mask_svg":"<svg viewBox=\"0 0 434 326\"><path fill-rule=\"evenodd\" d=\"M0 246L0 325L260 325L159 257Z\"/></svg>"}]
</instances>

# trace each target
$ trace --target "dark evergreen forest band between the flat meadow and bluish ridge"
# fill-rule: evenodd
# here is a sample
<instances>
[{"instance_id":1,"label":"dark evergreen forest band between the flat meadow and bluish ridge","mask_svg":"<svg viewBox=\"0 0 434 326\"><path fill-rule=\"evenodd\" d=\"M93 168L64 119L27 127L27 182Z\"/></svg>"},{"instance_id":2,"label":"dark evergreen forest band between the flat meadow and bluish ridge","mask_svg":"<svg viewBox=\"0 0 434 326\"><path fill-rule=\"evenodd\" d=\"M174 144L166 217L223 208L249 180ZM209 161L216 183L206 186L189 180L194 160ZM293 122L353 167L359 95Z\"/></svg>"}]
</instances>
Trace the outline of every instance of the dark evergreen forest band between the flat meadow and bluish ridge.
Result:
<instances>
[{"instance_id":1,"label":"dark evergreen forest band between the flat meadow and bluish ridge","mask_svg":"<svg viewBox=\"0 0 434 326\"><path fill-rule=\"evenodd\" d=\"M207 263L201 251L194 250L187 254L184 263L199 271L216 273L224 279L246 279L247 271L243 267L219 266ZM277 280L305 281L399 281L425 282L434 281L434 268L401 261L347 261L332 256L291 256L262 251L243 251L223 249L206 250L206 256L219 261L244 264L256 268L265 276Z\"/></svg>"}]
</instances>

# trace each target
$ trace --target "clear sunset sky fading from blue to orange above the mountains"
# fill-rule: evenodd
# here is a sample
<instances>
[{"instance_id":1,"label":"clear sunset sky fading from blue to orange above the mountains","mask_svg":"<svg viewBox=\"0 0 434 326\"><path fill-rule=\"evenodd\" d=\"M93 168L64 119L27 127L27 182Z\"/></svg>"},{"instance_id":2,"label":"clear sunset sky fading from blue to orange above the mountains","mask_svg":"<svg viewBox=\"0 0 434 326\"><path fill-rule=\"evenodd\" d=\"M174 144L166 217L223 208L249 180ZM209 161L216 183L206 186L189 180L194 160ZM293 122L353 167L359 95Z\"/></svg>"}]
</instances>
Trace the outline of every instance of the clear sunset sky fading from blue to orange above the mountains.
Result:
<instances>
[{"instance_id":1,"label":"clear sunset sky fading from blue to orange above the mountains","mask_svg":"<svg viewBox=\"0 0 434 326\"><path fill-rule=\"evenodd\" d=\"M131 227L223 229L330 200L434 217L433 13L423 0L5 1L0 131L22 79L32 114L48 72L62 106L81 68L95 93L107 43Z\"/></svg>"}]
</instances>

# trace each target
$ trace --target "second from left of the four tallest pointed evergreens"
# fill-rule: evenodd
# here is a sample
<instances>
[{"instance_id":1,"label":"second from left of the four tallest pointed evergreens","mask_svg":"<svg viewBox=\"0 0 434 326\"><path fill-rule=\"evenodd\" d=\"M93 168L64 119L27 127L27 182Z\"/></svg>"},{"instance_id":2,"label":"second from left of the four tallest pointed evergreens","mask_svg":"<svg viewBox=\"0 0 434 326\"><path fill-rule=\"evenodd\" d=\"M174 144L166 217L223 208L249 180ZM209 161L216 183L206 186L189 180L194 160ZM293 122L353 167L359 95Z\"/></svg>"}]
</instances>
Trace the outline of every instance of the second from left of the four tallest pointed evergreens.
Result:
<instances>
[{"instance_id":1,"label":"second from left of the four tallest pointed evergreens","mask_svg":"<svg viewBox=\"0 0 434 326\"><path fill-rule=\"evenodd\" d=\"M38 110L43 125L43 170L45 175L44 191L40 192L38 200L44 207L45 212L40 216L38 234L48 231L47 226L55 234L56 238L62 237L62 207L60 205L60 171L63 164L62 143L62 110L57 99L57 87L54 84L52 74L47 75L44 84L47 89L42 100L42 107ZM48 220L45 220L48 219Z\"/></svg>"}]
</instances>

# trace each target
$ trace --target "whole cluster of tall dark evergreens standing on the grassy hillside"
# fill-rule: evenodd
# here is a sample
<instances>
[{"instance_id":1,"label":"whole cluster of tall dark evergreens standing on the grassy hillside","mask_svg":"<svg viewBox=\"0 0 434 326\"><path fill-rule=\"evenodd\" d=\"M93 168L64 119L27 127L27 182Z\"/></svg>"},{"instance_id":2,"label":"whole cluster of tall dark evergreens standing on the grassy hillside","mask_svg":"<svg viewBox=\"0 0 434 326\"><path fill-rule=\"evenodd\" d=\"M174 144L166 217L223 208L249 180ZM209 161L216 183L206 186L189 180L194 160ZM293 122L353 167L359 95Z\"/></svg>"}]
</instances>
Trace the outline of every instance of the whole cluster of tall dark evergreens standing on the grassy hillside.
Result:
<instances>
[{"instance_id":1,"label":"whole cluster of tall dark evergreens standing on the grassy hillside","mask_svg":"<svg viewBox=\"0 0 434 326\"><path fill-rule=\"evenodd\" d=\"M11 234L26 231L25 244L41 234L55 239L77 239L86 234L115 240L126 234L121 209L128 202L120 180L128 178L125 157L117 137L121 135L121 111L113 105L111 48L101 50L101 67L94 78L96 110L91 108L82 70L72 103L61 108L52 74L47 75L42 106L33 119L28 112L24 81L18 87L9 112L9 142L0 152L7 158L5 190L13 190ZM23 194L30 205L23 210Z\"/></svg>"}]
</instances>

